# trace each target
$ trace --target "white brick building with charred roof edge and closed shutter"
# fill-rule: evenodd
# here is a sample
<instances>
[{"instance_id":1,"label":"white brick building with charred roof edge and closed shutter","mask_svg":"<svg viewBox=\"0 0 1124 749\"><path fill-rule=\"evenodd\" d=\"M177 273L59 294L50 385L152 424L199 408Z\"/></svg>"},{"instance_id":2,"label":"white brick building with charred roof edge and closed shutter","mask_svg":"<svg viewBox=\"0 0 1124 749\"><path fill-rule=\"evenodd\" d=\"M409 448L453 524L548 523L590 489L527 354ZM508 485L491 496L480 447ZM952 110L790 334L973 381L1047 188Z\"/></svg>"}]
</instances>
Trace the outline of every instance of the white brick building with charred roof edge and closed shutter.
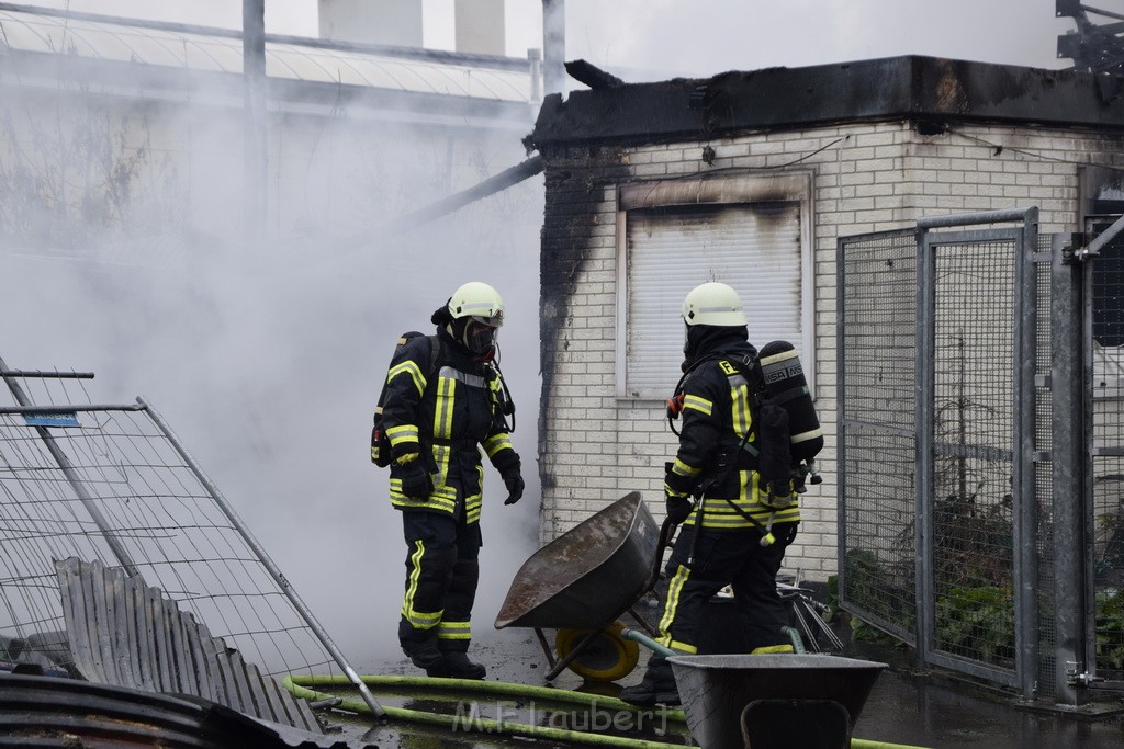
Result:
<instances>
[{"instance_id":1,"label":"white brick building with charred roof edge and closed shutter","mask_svg":"<svg viewBox=\"0 0 1124 749\"><path fill-rule=\"evenodd\" d=\"M661 509L678 310L716 280L746 301L752 342L800 353L827 445L787 564L835 572L836 240L1024 207L1042 232L1085 230L1120 188L1122 94L1117 77L899 57L547 97L527 138L546 162L543 537L631 491Z\"/></svg>"}]
</instances>

